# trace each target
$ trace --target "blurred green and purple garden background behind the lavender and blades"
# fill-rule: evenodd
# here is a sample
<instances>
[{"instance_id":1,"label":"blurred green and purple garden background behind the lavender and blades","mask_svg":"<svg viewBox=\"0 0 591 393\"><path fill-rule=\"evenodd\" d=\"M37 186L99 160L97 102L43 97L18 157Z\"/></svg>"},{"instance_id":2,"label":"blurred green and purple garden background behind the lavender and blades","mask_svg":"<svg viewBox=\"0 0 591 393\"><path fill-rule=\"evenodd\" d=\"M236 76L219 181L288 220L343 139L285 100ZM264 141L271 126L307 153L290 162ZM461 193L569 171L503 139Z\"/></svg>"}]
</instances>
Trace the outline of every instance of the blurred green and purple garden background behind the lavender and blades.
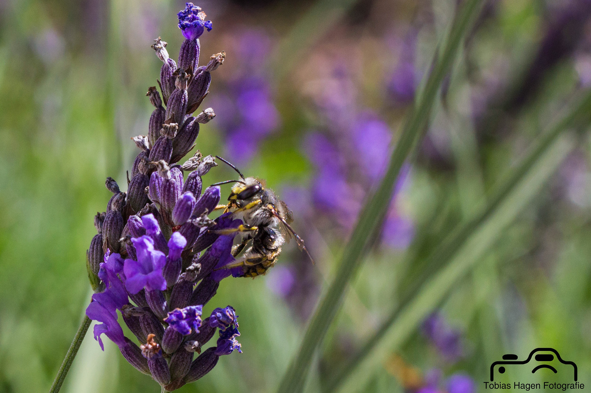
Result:
<instances>
[{"instance_id":1,"label":"blurred green and purple garden background behind the lavender and blades","mask_svg":"<svg viewBox=\"0 0 591 393\"><path fill-rule=\"evenodd\" d=\"M180 391L277 388L460 3L197 3L213 21L201 63L227 54L203 104L217 117L197 148L266 179L293 209L316 264L292 242L267 276L222 281L211 307L238 310L243 353ZM90 299L85 251L110 195L105 178L125 185L137 155L129 138L147 133L145 92L161 66L150 44L161 36L176 57L182 8L0 0L0 392L43 392L53 381ZM591 2L485 2L314 361L309 391L321 391L375 333L428 271L421 262L434 246L587 86ZM543 186L514 198L509 224L474 268L402 342L384 343L387 361L349 391L470 393L483 389L492 361L537 346L577 362L579 381L591 384L591 146L586 127L577 131L544 162ZM232 176L218 166L204 182ZM87 335L64 392L160 391L105 343L102 352ZM518 373L508 380L550 378Z\"/></svg>"}]
</instances>

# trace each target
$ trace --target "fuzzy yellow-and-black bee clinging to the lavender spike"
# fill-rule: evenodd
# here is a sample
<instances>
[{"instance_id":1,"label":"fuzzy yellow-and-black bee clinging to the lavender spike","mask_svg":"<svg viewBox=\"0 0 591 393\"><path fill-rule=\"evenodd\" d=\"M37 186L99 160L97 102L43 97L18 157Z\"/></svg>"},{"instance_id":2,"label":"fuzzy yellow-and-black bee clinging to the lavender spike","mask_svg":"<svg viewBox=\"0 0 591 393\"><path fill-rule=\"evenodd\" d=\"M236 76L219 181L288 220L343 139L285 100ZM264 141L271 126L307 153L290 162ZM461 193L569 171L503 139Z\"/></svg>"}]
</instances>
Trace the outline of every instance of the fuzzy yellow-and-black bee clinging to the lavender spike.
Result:
<instances>
[{"instance_id":1,"label":"fuzzy yellow-and-black bee clinging to the lavender spike","mask_svg":"<svg viewBox=\"0 0 591 393\"><path fill-rule=\"evenodd\" d=\"M291 228L293 212L287 204L281 201L271 189L266 188L264 181L253 177L245 178L236 166L219 156L216 158L228 164L241 178L241 180L214 184L235 183L228 197L228 204L217 207L225 209L225 212L232 212L235 218L240 218L244 222L240 230L246 234L242 242L232 249L232 256L237 257L246 245L251 243L246 251L236 258L235 263L223 268L243 266L242 277L263 275L277 262L281 254L281 246L286 238L289 241L292 235L296 238L298 248L305 251L314 262L304 240Z\"/></svg>"}]
</instances>

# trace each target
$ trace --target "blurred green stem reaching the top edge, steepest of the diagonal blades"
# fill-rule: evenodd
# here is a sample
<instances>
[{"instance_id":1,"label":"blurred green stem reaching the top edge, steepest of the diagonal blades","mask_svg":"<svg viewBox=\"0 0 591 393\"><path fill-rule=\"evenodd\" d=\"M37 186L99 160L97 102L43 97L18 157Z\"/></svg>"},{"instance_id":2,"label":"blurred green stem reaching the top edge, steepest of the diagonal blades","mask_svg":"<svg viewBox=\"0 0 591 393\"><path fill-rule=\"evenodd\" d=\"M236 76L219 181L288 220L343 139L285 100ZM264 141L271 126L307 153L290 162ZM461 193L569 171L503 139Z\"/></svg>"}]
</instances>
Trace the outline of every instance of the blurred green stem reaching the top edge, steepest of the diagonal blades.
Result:
<instances>
[{"instance_id":1,"label":"blurred green stem reaching the top edge, steepest of the diagonal blades","mask_svg":"<svg viewBox=\"0 0 591 393\"><path fill-rule=\"evenodd\" d=\"M379 188L368 198L365 206L359 214L358 223L343 252L343 260L340 263L335 279L330 284L326 294L320 300L314 315L312 316L304 338L296 357L290 363L281 384L280 393L301 392L306 381L310 363L314 352L324 339L330 324L342 304L343 294L359 267L361 257L368 244L369 238L375 233L376 226L384 217L394 192L394 183L408 154L417 145L418 140L426 131L427 122L437 91L443 81L443 77L450 70L462 37L468 30L470 22L480 9L482 0L469 0L456 15L449 35L440 48L440 56L434 62L433 71L429 74L423 91L413 109L408 114L402 128L400 140L397 143L392 158L388 165L384 179Z\"/></svg>"}]
</instances>

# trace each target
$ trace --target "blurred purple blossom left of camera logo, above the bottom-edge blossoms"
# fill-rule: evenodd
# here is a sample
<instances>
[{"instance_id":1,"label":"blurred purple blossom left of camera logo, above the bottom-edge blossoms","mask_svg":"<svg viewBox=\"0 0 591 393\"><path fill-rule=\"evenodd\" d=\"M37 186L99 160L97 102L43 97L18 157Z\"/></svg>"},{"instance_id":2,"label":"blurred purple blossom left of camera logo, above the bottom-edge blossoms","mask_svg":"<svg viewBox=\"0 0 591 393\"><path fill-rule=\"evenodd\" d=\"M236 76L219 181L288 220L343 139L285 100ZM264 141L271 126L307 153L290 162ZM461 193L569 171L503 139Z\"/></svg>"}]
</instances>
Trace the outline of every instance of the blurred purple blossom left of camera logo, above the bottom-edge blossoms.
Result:
<instances>
[{"instance_id":1,"label":"blurred purple blossom left of camera logo, above the bottom-edge blossoms","mask_svg":"<svg viewBox=\"0 0 591 393\"><path fill-rule=\"evenodd\" d=\"M457 362L463 355L462 336L449 326L440 313L433 313L423 322L423 334L433 343L443 358Z\"/></svg>"}]
</instances>

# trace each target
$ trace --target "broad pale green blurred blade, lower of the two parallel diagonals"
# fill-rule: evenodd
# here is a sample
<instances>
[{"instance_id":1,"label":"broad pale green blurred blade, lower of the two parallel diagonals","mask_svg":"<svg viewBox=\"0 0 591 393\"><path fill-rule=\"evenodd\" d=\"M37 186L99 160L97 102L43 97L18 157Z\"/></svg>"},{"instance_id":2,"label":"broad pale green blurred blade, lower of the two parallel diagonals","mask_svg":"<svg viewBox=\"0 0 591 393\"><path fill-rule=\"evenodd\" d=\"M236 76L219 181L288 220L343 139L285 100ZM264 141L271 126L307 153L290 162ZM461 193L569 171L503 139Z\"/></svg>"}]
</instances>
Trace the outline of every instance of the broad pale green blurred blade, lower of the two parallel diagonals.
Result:
<instances>
[{"instance_id":1,"label":"broad pale green blurred blade, lower of the two parallel diagonals","mask_svg":"<svg viewBox=\"0 0 591 393\"><path fill-rule=\"evenodd\" d=\"M543 152L524 180L504 198L499 207L491 214L458 250L454 257L430 280L420 293L399 313L380 334L371 340L371 348L364 348L361 359L348 368L342 379L327 391L357 391L362 388L376 368L381 367L388 356L400 348L400 345L414 332L421 322L441 303L447 293L475 266L476 262L486 255L486 251L501 238L506 227L515 219L522 209L527 207L531 199L556 171L558 165L566 158L574 147L573 138L568 136L555 140Z\"/></svg>"}]
</instances>

